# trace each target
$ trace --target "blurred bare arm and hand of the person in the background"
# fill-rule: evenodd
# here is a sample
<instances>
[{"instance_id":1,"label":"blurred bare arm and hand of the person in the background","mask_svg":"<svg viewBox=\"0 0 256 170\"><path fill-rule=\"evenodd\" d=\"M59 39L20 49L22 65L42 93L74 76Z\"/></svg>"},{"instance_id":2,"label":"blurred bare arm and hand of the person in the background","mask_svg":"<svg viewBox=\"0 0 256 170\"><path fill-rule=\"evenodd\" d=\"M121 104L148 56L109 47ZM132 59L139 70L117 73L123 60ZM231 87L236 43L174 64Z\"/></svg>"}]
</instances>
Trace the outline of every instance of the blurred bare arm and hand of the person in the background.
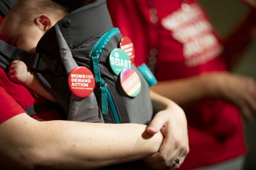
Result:
<instances>
[{"instance_id":1,"label":"blurred bare arm and hand of the person in the background","mask_svg":"<svg viewBox=\"0 0 256 170\"><path fill-rule=\"evenodd\" d=\"M183 106L206 97L224 98L237 105L249 122L253 121L251 113L256 113L256 82L246 76L211 72L159 82L152 90Z\"/></svg>"}]
</instances>

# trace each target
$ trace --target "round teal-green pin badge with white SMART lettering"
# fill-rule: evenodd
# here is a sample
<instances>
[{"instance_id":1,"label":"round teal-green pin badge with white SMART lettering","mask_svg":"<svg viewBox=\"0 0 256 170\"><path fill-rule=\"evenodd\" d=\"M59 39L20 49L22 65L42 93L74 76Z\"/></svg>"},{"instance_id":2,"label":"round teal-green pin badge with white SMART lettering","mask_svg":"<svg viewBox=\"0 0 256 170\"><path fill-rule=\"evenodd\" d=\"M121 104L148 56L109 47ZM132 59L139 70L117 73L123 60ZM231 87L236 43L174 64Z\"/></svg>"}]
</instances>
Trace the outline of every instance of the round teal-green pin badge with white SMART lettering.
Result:
<instances>
[{"instance_id":1,"label":"round teal-green pin badge with white SMART lettering","mask_svg":"<svg viewBox=\"0 0 256 170\"><path fill-rule=\"evenodd\" d=\"M122 69L131 68L131 60L124 50L114 49L110 52L109 63L115 75L119 75Z\"/></svg>"}]
</instances>

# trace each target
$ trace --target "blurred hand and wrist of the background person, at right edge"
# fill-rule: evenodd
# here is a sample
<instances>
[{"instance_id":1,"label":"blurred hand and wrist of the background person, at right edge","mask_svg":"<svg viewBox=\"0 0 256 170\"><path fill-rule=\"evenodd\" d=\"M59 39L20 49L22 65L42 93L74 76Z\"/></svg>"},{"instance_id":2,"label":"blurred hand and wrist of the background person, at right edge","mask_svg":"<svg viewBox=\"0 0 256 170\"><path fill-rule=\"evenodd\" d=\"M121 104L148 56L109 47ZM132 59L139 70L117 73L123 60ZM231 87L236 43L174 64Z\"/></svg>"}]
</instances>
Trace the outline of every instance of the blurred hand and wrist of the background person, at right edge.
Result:
<instances>
[{"instance_id":1,"label":"blurred hand and wrist of the background person, at right edge","mask_svg":"<svg viewBox=\"0 0 256 170\"><path fill-rule=\"evenodd\" d=\"M256 82L246 76L230 73L205 74L211 96L222 97L236 104L248 122L254 120L256 113Z\"/></svg>"}]
</instances>

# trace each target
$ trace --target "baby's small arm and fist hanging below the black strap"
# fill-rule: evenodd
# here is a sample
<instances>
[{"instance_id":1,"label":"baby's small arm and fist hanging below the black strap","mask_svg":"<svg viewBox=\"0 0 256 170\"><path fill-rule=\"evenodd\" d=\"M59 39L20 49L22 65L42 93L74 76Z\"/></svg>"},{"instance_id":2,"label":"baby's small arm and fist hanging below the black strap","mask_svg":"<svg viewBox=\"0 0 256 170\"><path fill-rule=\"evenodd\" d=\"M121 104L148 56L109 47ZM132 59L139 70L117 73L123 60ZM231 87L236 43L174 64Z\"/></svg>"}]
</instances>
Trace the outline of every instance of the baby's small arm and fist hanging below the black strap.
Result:
<instances>
[{"instance_id":1,"label":"baby's small arm and fist hanging below the black strap","mask_svg":"<svg viewBox=\"0 0 256 170\"><path fill-rule=\"evenodd\" d=\"M53 96L38 82L34 72L32 72L24 62L18 60L11 62L8 76L10 80L25 85L27 88L35 91L49 101L56 102Z\"/></svg>"}]
</instances>

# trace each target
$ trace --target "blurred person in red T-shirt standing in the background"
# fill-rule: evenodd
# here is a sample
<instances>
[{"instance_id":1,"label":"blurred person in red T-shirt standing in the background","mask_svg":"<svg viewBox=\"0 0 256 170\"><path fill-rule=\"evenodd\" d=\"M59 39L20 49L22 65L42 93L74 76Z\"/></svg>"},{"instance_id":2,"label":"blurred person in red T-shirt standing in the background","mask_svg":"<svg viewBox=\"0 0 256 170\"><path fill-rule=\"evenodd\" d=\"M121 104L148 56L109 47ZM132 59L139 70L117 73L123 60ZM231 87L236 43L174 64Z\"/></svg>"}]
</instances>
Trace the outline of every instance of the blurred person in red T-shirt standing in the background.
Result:
<instances>
[{"instance_id":1,"label":"blurred person in red T-shirt standing in the background","mask_svg":"<svg viewBox=\"0 0 256 170\"><path fill-rule=\"evenodd\" d=\"M256 83L227 71L250 42L255 8L222 42L196 0L108 0L107 5L114 26L134 44L136 66L147 63L155 73L159 82L152 90L185 110L190 153L180 169L242 169L240 113L253 120ZM160 169L157 162L150 167Z\"/></svg>"}]
</instances>

